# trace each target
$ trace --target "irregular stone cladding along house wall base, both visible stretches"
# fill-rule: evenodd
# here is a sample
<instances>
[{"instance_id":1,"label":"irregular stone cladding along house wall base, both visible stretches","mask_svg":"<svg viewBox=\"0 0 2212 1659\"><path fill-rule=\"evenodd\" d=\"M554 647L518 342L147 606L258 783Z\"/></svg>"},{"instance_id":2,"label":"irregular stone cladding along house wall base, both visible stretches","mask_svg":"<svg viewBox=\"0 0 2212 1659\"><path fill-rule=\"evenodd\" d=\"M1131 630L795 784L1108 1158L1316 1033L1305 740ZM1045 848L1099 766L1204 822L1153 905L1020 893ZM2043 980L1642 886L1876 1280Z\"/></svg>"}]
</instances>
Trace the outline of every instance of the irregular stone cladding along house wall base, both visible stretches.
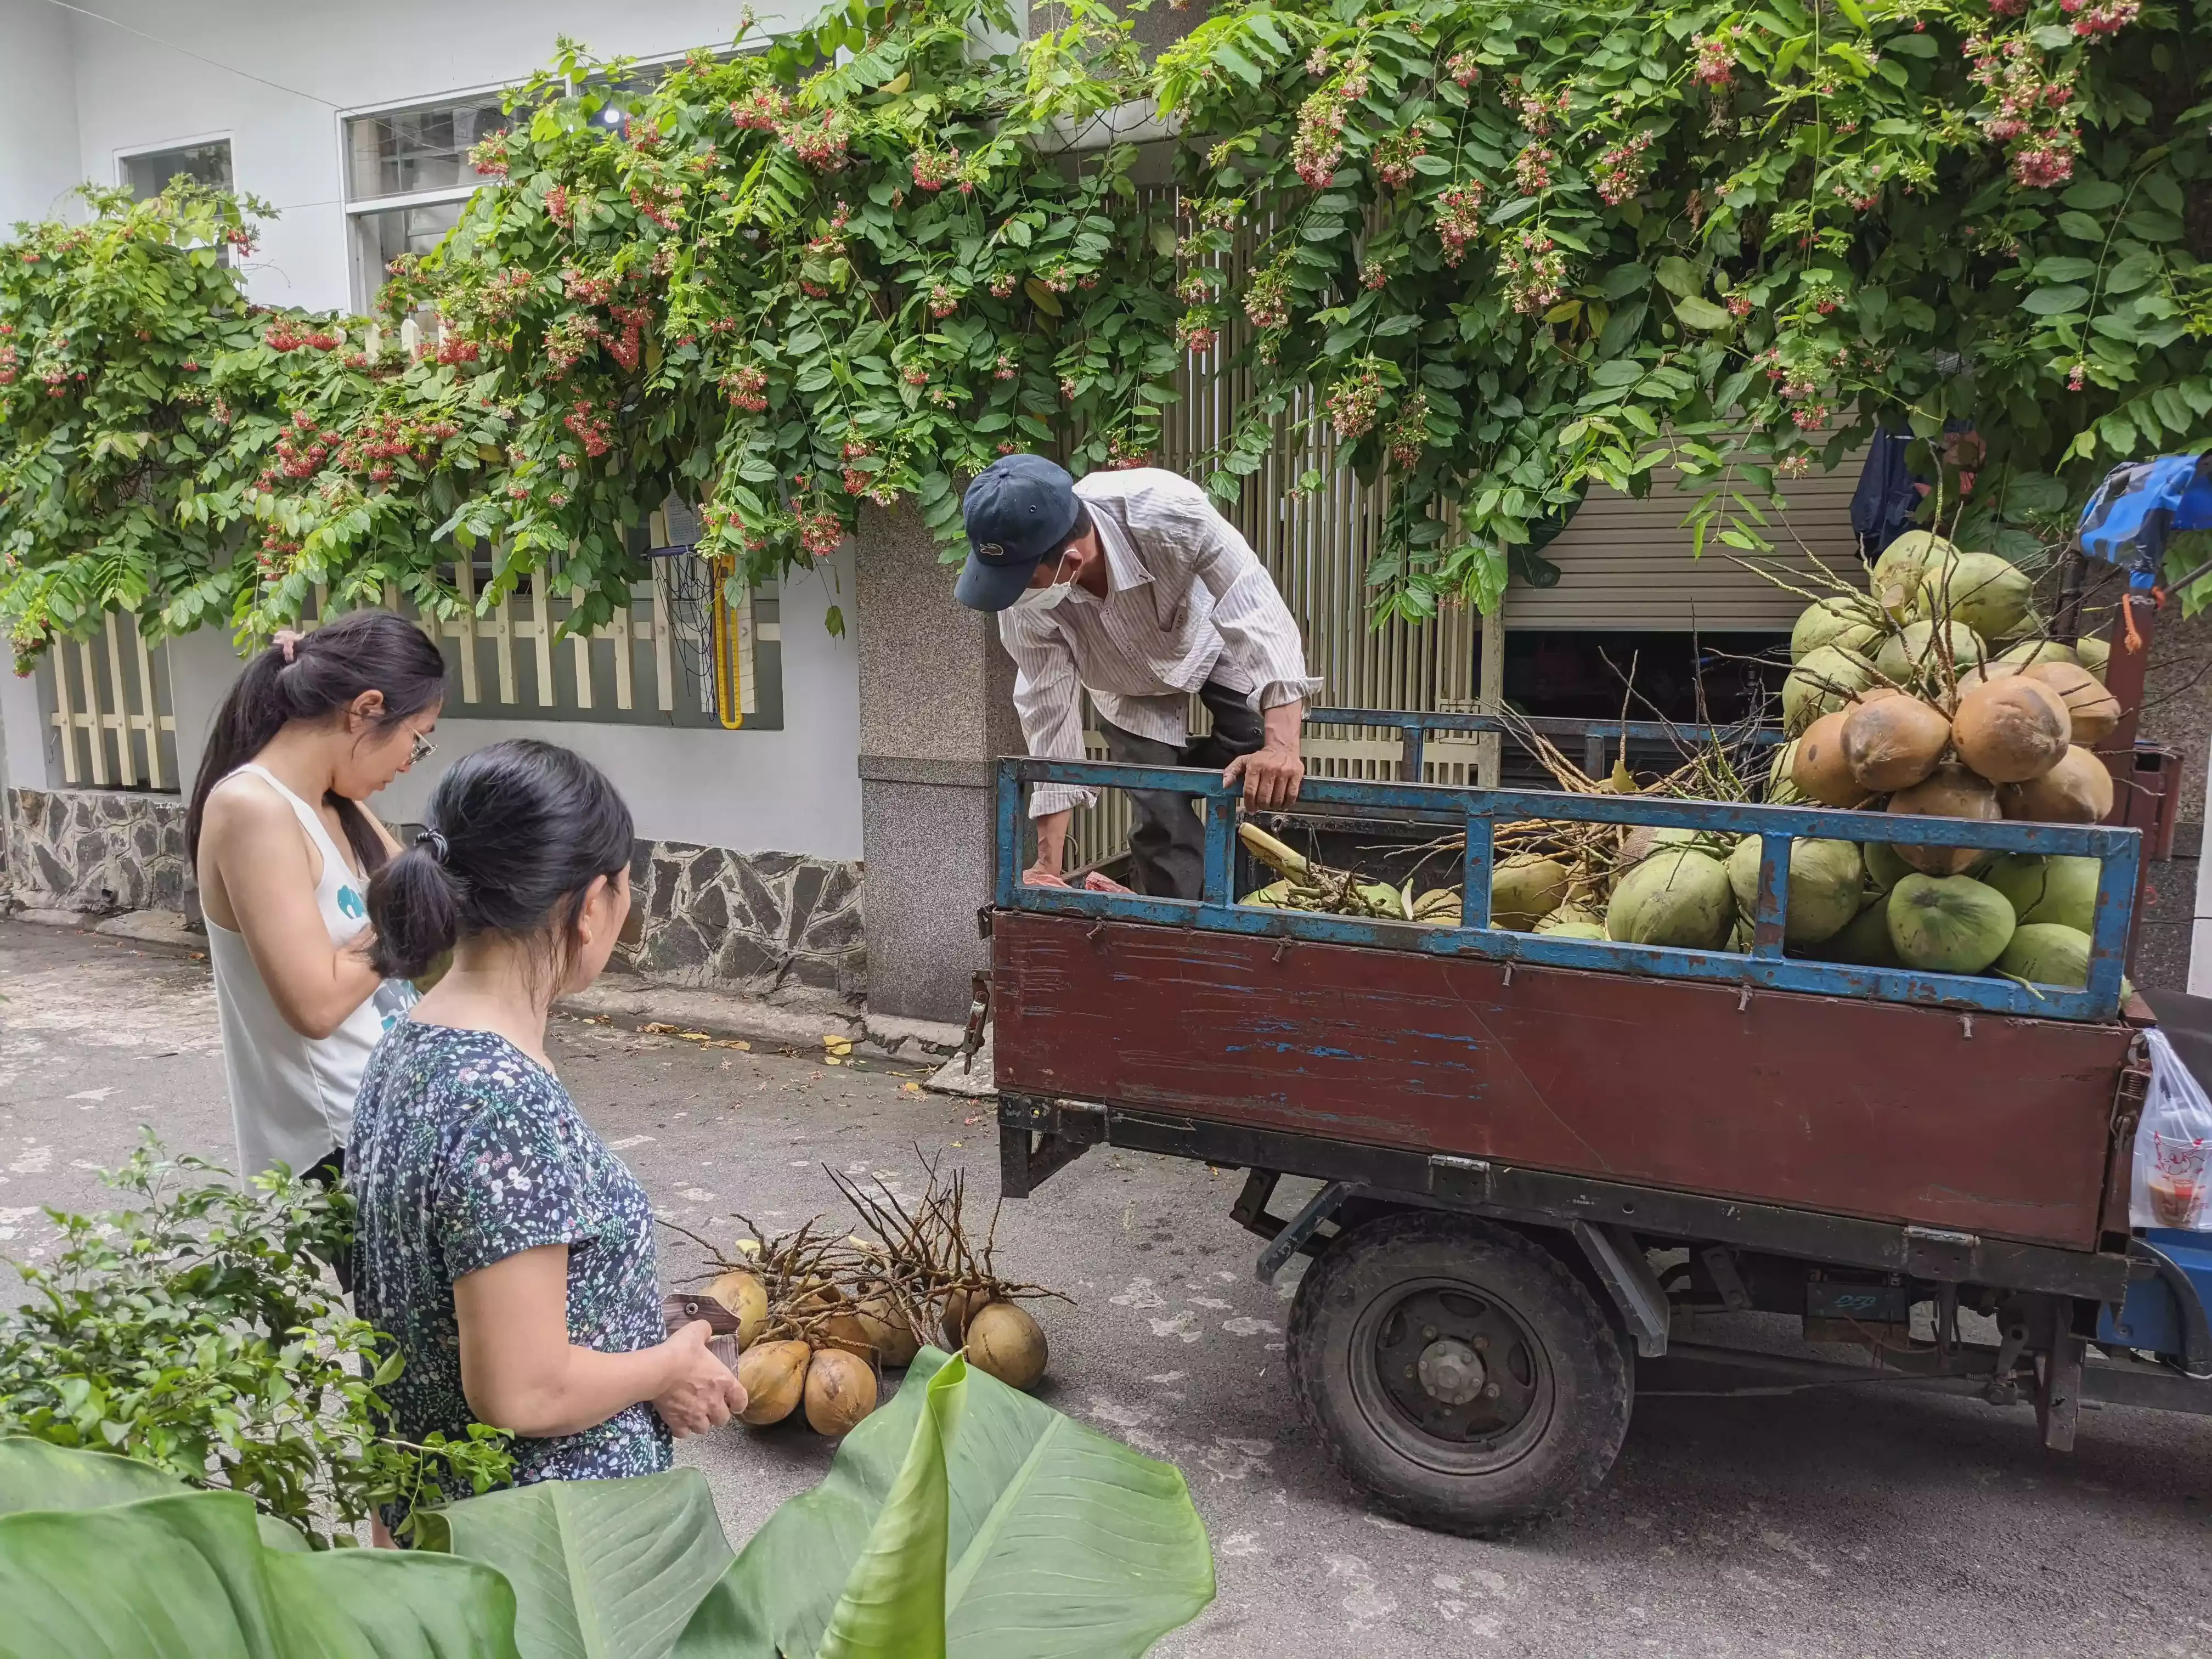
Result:
<instances>
[{"instance_id":1,"label":"irregular stone cladding along house wall base, both visible stretches","mask_svg":"<svg viewBox=\"0 0 2212 1659\"><path fill-rule=\"evenodd\" d=\"M18 905L88 916L199 909L175 794L15 790L11 807L4 880ZM633 958L653 980L852 1000L865 989L858 863L639 841L630 889Z\"/></svg>"}]
</instances>

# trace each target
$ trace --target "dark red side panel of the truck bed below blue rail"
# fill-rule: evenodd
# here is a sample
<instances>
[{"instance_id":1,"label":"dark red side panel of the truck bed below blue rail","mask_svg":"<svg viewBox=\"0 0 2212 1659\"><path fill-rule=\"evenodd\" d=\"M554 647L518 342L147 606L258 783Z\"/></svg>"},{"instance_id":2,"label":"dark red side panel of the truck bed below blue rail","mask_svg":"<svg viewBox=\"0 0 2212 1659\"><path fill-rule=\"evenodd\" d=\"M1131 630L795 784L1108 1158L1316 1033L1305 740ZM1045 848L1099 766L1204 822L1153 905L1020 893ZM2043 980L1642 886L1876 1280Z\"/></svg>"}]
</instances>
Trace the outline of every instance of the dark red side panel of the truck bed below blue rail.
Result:
<instances>
[{"instance_id":1,"label":"dark red side panel of the truck bed below blue rail","mask_svg":"<svg viewBox=\"0 0 2212 1659\"><path fill-rule=\"evenodd\" d=\"M1013 1093L2097 1243L2121 1026L1026 911L993 938Z\"/></svg>"}]
</instances>

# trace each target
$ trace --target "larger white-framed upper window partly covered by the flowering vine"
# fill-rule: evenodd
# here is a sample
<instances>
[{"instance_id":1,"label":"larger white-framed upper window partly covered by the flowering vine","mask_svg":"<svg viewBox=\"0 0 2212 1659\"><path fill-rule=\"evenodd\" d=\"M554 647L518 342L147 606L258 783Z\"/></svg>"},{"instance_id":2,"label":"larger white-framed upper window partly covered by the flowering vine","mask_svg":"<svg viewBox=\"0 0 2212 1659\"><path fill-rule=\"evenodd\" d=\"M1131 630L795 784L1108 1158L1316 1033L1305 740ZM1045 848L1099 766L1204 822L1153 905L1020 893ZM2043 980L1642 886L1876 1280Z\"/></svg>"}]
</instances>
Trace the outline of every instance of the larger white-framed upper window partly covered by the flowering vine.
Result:
<instances>
[{"instance_id":1,"label":"larger white-framed upper window partly covered by the flowering vine","mask_svg":"<svg viewBox=\"0 0 2212 1659\"><path fill-rule=\"evenodd\" d=\"M500 93L345 119L345 221L354 303L367 307L400 254L427 254L484 181L469 150L507 131Z\"/></svg>"}]
</instances>

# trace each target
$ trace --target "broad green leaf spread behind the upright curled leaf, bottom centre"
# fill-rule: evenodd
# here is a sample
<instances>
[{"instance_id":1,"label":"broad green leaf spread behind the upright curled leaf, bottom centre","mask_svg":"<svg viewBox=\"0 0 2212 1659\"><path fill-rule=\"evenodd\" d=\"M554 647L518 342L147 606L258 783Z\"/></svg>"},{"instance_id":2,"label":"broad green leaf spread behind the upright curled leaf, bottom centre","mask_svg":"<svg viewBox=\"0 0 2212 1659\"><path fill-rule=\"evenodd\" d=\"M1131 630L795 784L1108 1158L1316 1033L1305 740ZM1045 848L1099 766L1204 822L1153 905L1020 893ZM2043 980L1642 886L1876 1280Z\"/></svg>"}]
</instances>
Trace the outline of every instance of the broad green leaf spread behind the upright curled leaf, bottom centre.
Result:
<instances>
[{"instance_id":1,"label":"broad green leaf spread behind the upright curled leaf, bottom centre","mask_svg":"<svg viewBox=\"0 0 2212 1659\"><path fill-rule=\"evenodd\" d=\"M830 1478L745 1544L679 1659L818 1650L938 1398L920 1385L947 1363L925 1347L898 1398L845 1436ZM1199 1615L1214 1566L1181 1473L982 1371L958 1387L967 1398L945 1458L949 1652L1119 1659Z\"/></svg>"}]
</instances>

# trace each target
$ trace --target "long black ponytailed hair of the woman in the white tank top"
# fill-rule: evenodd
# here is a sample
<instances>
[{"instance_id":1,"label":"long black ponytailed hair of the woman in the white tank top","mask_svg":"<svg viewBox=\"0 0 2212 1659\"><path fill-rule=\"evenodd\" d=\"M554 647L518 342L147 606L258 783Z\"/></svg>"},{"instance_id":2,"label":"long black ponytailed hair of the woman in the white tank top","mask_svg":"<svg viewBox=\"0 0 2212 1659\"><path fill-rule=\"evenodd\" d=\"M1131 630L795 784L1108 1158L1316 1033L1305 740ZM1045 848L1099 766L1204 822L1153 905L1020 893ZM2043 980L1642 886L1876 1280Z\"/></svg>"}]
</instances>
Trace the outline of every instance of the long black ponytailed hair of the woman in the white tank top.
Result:
<instances>
[{"instance_id":1,"label":"long black ponytailed hair of the woman in the white tank top","mask_svg":"<svg viewBox=\"0 0 2212 1659\"><path fill-rule=\"evenodd\" d=\"M290 655L285 655L290 644ZM445 657L420 628L389 611L354 611L314 633L274 644L246 664L208 734L208 752L192 781L192 810L184 816L186 854L199 860L199 823L208 794L292 721L312 721L352 706L361 692L383 692L378 726L396 726L445 701ZM363 872L385 863L385 838L367 807L336 790L323 805L345 825L345 843Z\"/></svg>"}]
</instances>

